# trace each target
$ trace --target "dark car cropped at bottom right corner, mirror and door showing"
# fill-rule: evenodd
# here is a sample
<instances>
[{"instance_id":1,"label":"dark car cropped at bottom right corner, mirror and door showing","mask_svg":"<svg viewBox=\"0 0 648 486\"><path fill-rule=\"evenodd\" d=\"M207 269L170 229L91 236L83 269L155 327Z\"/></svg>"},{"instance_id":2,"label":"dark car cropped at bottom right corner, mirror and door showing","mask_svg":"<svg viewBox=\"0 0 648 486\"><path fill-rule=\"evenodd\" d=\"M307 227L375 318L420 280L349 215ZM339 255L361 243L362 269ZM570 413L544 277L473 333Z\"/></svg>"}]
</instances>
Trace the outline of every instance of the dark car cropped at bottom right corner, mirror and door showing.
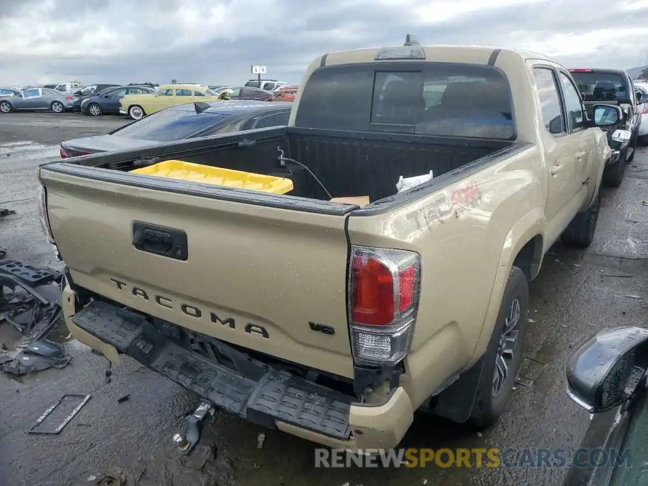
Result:
<instances>
[{"instance_id":1,"label":"dark car cropped at bottom right corner, mirror and door showing","mask_svg":"<svg viewBox=\"0 0 648 486\"><path fill-rule=\"evenodd\" d=\"M568 394L590 426L563 486L648 484L648 329L599 331L567 364Z\"/></svg>"}]
</instances>

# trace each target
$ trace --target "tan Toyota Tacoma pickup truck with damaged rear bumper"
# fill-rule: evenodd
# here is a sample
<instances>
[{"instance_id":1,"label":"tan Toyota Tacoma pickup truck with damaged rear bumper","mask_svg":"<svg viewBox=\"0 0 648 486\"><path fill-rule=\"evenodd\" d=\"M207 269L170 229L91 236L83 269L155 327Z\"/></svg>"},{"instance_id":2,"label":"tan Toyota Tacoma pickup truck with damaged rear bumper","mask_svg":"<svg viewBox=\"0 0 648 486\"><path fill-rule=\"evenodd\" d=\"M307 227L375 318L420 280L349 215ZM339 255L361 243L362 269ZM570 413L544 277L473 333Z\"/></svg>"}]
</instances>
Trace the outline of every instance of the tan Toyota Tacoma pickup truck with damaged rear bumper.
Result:
<instances>
[{"instance_id":1,"label":"tan Toyota Tacoma pickup truck with damaged rear bumper","mask_svg":"<svg viewBox=\"0 0 648 486\"><path fill-rule=\"evenodd\" d=\"M609 157L561 65L410 42L319 56L289 126L43 165L41 220L78 340L257 424L389 448L418 409L503 413L528 283L559 238L592 242ZM293 189L130 172L167 159Z\"/></svg>"}]
</instances>

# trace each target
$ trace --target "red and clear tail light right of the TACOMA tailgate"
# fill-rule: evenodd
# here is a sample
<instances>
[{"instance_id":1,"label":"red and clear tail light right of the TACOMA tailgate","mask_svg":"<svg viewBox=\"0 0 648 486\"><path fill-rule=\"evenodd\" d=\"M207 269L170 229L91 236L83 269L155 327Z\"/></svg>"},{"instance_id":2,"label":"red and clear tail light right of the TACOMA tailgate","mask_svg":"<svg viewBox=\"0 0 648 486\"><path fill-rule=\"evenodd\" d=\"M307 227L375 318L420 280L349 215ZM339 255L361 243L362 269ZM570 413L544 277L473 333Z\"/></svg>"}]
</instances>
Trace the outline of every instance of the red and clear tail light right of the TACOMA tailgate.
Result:
<instances>
[{"instance_id":1,"label":"red and clear tail light right of the TACOMA tailgate","mask_svg":"<svg viewBox=\"0 0 648 486\"><path fill-rule=\"evenodd\" d=\"M399 362L416 320L421 259L411 251L354 246L349 325L356 361Z\"/></svg>"}]
</instances>

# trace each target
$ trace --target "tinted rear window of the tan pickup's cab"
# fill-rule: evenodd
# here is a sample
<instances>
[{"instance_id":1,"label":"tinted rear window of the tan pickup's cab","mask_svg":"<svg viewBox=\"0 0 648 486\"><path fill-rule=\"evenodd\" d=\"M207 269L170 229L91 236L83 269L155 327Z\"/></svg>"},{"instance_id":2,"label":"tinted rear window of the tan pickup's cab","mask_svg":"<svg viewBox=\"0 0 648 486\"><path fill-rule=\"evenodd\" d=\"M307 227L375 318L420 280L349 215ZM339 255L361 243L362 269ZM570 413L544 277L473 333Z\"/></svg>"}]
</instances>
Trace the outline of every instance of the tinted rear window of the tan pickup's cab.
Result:
<instances>
[{"instance_id":1,"label":"tinted rear window of the tan pickup's cab","mask_svg":"<svg viewBox=\"0 0 648 486\"><path fill-rule=\"evenodd\" d=\"M356 64L318 69L304 87L295 125L515 138L511 88L502 71L456 63L393 66Z\"/></svg>"}]
</instances>

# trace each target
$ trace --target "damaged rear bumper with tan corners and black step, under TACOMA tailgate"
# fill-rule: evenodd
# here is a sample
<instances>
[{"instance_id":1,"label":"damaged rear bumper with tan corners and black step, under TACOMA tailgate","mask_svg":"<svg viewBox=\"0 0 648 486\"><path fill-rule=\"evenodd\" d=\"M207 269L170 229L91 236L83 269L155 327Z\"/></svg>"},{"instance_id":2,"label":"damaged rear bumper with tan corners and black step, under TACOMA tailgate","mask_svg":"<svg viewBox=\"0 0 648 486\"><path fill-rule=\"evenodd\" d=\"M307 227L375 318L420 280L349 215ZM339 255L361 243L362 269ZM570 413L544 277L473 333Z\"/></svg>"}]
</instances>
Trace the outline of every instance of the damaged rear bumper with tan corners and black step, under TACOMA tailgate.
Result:
<instances>
[{"instance_id":1,"label":"damaged rear bumper with tan corners and black step, under TACOMA tailgate","mask_svg":"<svg viewBox=\"0 0 648 486\"><path fill-rule=\"evenodd\" d=\"M76 294L64 291L65 322L71 334L111 362L127 354L215 406L249 421L346 450L392 448L413 421L406 391L386 402L364 405L315 382L272 369L237 349L213 343L228 365L179 346L141 314L95 301L75 312Z\"/></svg>"}]
</instances>

